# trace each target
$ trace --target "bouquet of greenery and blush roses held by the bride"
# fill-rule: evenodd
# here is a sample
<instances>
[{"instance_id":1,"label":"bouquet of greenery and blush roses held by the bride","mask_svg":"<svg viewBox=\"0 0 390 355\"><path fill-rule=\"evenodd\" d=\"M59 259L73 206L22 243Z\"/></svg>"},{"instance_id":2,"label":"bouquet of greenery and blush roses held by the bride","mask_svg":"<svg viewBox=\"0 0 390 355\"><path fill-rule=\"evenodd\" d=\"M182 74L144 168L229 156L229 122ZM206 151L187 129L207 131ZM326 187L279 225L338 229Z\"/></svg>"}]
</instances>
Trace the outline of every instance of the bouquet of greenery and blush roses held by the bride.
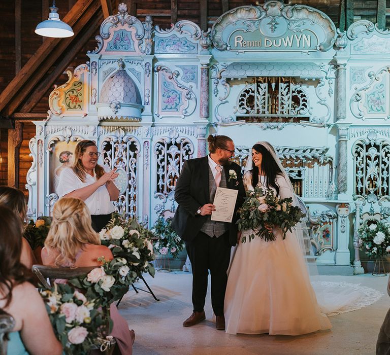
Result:
<instances>
[{"instance_id":1,"label":"bouquet of greenery and blush roses held by the bride","mask_svg":"<svg viewBox=\"0 0 390 355\"><path fill-rule=\"evenodd\" d=\"M273 190L266 192L261 188L254 188L254 191L247 191L242 207L238 210L240 219L237 221L238 229L253 230L249 235L249 242L255 235L265 241L275 240L274 228L280 228L283 239L287 231L291 232L301 218L304 217L298 206L293 206L293 199L290 197L280 199L274 195ZM245 243L246 236L241 242Z\"/></svg>"}]
</instances>

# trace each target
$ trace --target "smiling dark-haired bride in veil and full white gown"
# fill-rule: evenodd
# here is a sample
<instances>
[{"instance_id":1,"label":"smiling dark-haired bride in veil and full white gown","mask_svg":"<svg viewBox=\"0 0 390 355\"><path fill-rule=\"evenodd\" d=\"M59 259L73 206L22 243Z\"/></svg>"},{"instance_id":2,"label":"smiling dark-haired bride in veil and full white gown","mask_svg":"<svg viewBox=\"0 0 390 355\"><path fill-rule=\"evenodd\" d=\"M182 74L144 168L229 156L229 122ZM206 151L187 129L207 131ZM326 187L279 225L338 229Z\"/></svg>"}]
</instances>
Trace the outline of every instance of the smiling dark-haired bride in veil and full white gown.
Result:
<instances>
[{"instance_id":1,"label":"smiling dark-haired bride in veil and full white gown","mask_svg":"<svg viewBox=\"0 0 390 355\"><path fill-rule=\"evenodd\" d=\"M293 198L293 187L273 147L258 142L252 147L244 173L246 190L272 189L279 198ZM242 236L252 234L242 232ZM230 334L300 335L330 329L310 283L304 258L300 224L287 232L274 229L275 241L255 237L239 241L229 271L224 313ZM240 238L241 240L242 238Z\"/></svg>"}]
</instances>

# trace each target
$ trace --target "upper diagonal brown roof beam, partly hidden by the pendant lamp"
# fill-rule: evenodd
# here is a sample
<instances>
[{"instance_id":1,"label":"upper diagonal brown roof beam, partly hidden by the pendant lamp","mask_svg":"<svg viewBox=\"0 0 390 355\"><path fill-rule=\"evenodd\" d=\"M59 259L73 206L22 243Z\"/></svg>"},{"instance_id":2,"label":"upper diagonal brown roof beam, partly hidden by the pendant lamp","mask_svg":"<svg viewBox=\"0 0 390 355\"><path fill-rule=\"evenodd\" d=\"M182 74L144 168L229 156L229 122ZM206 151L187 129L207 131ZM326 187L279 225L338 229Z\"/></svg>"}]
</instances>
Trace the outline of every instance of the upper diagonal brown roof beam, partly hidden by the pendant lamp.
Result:
<instances>
[{"instance_id":1,"label":"upper diagonal brown roof beam, partly hidden by the pendant lamp","mask_svg":"<svg viewBox=\"0 0 390 355\"><path fill-rule=\"evenodd\" d=\"M76 22L83 16L83 14L88 10L90 5L94 3L95 0L78 0L78 2L72 7L66 16L64 16L63 21L68 23L70 26L74 27ZM99 3L100 7L100 3ZM73 28L75 30L75 28ZM75 32L76 34L76 32ZM36 77L37 70L39 72L46 72L52 62L57 58L53 58L53 50L61 46L64 50L67 48L67 45L72 41L72 39L58 39L58 38L48 38L36 51L34 55L27 61L27 63L21 68L20 72L15 76L15 78L8 84L8 86L0 94L0 112L4 111L7 105L14 101L15 95L21 90L24 93L24 97L28 95L28 90L25 89L24 85L31 77ZM67 45L64 46L63 44ZM49 60L45 61L48 58ZM51 60L54 59L54 60ZM48 63L51 63L50 65ZM42 70L42 69L46 70ZM42 76L41 76L42 77ZM38 79L39 80L39 79ZM23 95L22 95L23 96ZM3 114L10 115L15 112L15 109L21 103L21 100L18 100L17 104L13 104L12 108L7 108Z\"/></svg>"}]
</instances>

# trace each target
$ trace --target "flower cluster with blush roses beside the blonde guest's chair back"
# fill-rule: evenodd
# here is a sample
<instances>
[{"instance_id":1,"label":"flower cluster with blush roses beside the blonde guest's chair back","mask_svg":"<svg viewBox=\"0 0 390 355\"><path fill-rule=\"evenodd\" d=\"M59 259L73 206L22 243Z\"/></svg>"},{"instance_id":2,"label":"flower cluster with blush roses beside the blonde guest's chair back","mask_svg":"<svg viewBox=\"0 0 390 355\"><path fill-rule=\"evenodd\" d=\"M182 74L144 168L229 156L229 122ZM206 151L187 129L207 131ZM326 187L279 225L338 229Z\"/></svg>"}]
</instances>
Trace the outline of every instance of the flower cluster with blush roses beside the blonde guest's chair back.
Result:
<instances>
[{"instance_id":1,"label":"flower cluster with blush roses beside the blonde guest's chair back","mask_svg":"<svg viewBox=\"0 0 390 355\"><path fill-rule=\"evenodd\" d=\"M85 290L87 299L95 299L95 305L110 307L123 297L129 286L136 280L137 273L131 270L126 259L114 258L107 261L99 258L102 266L95 267L84 277L76 277L69 283L80 290Z\"/></svg>"}]
</instances>

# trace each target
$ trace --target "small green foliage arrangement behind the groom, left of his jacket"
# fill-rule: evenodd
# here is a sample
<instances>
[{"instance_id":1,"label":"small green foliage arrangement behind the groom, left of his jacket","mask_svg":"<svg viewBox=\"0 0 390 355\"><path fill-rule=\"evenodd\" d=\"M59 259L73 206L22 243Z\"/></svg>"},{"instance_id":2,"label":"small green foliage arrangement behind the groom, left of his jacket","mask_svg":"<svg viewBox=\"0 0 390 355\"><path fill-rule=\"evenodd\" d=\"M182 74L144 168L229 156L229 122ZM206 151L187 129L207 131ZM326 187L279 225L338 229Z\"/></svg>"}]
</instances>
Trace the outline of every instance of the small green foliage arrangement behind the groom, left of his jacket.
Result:
<instances>
[{"instance_id":1,"label":"small green foliage arrangement behind the groom, left of his jacket","mask_svg":"<svg viewBox=\"0 0 390 355\"><path fill-rule=\"evenodd\" d=\"M154 234L159 238L153 245L154 252L161 255L167 255L171 253L174 259L178 254L184 250L184 241L176 234L171 226L172 220L167 220L164 217L159 217L154 224L152 230Z\"/></svg>"}]
</instances>

